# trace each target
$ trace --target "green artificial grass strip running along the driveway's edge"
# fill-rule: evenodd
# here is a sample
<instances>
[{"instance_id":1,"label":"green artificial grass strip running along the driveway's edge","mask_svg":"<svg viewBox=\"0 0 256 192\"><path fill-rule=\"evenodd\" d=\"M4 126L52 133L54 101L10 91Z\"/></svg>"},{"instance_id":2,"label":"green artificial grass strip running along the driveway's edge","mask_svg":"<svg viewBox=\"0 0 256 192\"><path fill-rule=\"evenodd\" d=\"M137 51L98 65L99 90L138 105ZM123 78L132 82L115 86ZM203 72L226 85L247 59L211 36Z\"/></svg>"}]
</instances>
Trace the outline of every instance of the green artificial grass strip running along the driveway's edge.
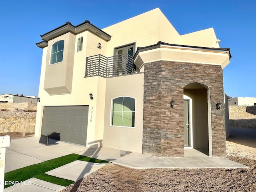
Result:
<instances>
[{"instance_id":1,"label":"green artificial grass strip running along the driveway's edge","mask_svg":"<svg viewBox=\"0 0 256 192\"><path fill-rule=\"evenodd\" d=\"M62 157L58 157L55 159L51 159L48 161L44 161L38 164L26 166L24 168L20 168L17 170L13 170L10 172L5 173L4 180L5 181L25 181L32 177L36 177L37 175L44 174L47 171L53 170L55 168L58 168L60 166L66 165L68 163L71 163L75 160L80 161L87 161L87 162L95 162L95 163L108 163L108 161L104 160L98 160L95 158L90 158L78 154L69 154ZM51 182L51 181L49 181ZM5 185L4 188L9 187L10 185Z\"/></svg>"}]
</instances>

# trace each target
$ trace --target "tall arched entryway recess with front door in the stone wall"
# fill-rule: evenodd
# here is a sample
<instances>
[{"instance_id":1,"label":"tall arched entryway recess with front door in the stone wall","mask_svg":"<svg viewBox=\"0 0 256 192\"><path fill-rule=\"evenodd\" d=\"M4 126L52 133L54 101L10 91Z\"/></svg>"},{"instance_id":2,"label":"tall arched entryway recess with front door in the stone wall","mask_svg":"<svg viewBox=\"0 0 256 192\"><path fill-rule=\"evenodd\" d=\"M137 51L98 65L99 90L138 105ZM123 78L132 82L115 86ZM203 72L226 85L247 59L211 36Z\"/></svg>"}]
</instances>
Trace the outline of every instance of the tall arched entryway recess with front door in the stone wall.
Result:
<instances>
[{"instance_id":1,"label":"tall arched entryway recess with front door in the stone wall","mask_svg":"<svg viewBox=\"0 0 256 192\"><path fill-rule=\"evenodd\" d=\"M184 86L184 157L212 157L210 90L200 83Z\"/></svg>"}]
</instances>

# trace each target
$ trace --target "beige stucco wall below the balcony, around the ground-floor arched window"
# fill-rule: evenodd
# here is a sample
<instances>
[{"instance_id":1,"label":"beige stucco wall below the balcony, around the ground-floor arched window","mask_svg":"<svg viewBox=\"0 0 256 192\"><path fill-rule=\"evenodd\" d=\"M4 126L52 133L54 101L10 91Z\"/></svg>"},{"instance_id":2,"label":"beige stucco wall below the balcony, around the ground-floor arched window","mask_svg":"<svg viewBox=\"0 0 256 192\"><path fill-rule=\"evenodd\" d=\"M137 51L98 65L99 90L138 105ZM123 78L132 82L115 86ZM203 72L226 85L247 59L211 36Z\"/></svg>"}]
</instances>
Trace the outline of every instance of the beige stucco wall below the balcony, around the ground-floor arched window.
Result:
<instances>
[{"instance_id":1,"label":"beige stucco wall below the balcony, around the ground-floor arched window","mask_svg":"<svg viewBox=\"0 0 256 192\"><path fill-rule=\"evenodd\" d=\"M143 78L141 73L107 79L103 146L142 152ZM111 100L119 96L135 98L134 128L110 126Z\"/></svg>"}]
</instances>

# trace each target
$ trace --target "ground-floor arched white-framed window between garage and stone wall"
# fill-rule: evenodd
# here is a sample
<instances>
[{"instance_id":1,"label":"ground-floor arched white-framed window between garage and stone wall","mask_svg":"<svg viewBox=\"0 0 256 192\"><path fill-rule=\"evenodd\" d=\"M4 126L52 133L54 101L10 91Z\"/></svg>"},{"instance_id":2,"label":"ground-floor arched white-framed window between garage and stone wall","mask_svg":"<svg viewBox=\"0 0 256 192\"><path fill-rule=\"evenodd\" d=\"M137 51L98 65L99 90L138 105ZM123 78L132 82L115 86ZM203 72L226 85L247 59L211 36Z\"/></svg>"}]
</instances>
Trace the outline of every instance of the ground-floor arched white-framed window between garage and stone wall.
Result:
<instances>
[{"instance_id":1,"label":"ground-floor arched white-framed window between garage and stone wall","mask_svg":"<svg viewBox=\"0 0 256 192\"><path fill-rule=\"evenodd\" d=\"M112 100L112 126L134 127L135 99L118 97Z\"/></svg>"}]
</instances>

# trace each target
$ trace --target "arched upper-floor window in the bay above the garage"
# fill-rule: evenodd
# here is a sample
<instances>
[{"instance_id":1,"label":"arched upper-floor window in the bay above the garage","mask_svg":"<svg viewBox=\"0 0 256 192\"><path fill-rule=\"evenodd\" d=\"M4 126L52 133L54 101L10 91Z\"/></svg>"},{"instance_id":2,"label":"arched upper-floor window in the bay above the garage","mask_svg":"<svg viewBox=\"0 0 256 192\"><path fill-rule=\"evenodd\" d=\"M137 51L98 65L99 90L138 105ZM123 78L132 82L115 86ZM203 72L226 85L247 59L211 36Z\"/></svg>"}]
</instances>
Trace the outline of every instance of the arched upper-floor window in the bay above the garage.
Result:
<instances>
[{"instance_id":1,"label":"arched upper-floor window in the bay above the garage","mask_svg":"<svg viewBox=\"0 0 256 192\"><path fill-rule=\"evenodd\" d=\"M60 40L52 45L50 65L63 60L64 40Z\"/></svg>"}]
</instances>

